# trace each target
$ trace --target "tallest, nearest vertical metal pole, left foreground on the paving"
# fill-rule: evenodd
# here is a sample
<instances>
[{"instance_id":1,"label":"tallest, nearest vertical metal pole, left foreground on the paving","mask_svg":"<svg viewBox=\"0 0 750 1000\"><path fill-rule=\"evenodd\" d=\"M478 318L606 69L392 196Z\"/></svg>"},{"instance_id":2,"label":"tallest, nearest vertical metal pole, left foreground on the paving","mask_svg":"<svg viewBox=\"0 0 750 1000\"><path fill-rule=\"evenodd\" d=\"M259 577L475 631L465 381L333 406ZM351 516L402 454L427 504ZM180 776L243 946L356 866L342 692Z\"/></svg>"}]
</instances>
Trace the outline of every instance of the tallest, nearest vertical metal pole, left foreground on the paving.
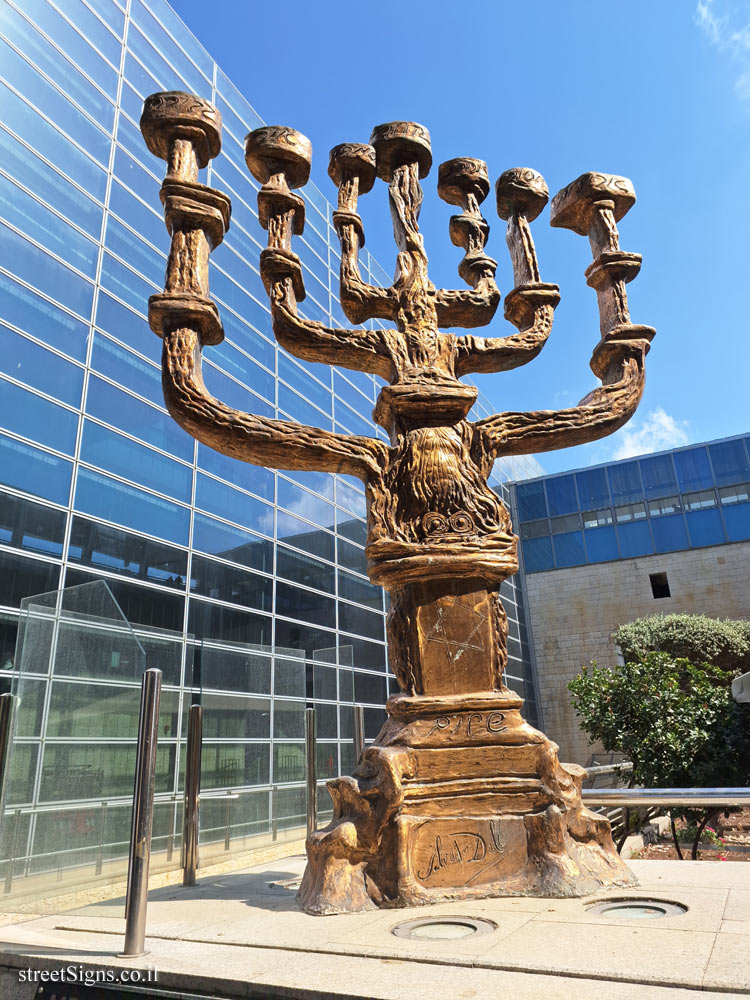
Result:
<instances>
[{"instance_id":1,"label":"tallest, nearest vertical metal pole, left foreground on the paving","mask_svg":"<svg viewBox=\"0 0 750 1000\"><path fill-rule=\"evenodd\" d=\"M133 786L133 821L130 828L128 889L125 899L125 947L123 956L145 955L148 868L151 861L151 830L154 821L156 743L159 736L161 670L143 675L141 711L138 719L138 750Z\"/></svg>"}]
</instances>

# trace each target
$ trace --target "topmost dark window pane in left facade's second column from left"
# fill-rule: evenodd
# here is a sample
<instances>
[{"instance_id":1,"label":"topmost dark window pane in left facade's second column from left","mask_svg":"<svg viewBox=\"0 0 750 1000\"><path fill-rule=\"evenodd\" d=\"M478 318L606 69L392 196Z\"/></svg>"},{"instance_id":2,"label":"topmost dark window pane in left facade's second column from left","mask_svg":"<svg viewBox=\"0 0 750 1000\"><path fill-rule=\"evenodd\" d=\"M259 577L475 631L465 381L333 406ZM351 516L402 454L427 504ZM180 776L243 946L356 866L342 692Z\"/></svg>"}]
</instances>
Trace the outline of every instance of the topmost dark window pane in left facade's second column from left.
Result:
<instances>
[{"instance_id":1,"label":"topmost dark window pane in left facade's second column from left","mask_svg":"<svg viewBox=\"0 0 750 1000\"><path fill-rule=\"evenodd\" d=\"M74 517L68 558L71 562L154 583L185 586L187 552L108 524Z\"/></svg>"}]
</instances>

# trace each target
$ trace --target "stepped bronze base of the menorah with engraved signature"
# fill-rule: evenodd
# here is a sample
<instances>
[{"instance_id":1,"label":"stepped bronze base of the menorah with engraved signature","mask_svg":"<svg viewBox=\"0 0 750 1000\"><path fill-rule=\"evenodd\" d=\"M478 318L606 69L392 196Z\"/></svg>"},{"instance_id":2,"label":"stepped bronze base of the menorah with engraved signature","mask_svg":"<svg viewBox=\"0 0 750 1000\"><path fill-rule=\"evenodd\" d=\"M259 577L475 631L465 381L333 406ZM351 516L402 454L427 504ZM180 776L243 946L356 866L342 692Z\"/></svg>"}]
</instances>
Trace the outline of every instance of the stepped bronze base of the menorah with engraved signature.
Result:
<instances>
[{"instance_id":1,"label":"stepped bronze base of the menorah with engraved signature","mask_svg":"<svg viewBox=\"0 0 750 1000\"><path fill-rule=\"evenodd\" d=\"M334 818L307 840L308 913L488 896L586 896L636 884L609 821L581 803L585 770L521 717L512 692L396 695Z\"/></svg>"}]
</instances>

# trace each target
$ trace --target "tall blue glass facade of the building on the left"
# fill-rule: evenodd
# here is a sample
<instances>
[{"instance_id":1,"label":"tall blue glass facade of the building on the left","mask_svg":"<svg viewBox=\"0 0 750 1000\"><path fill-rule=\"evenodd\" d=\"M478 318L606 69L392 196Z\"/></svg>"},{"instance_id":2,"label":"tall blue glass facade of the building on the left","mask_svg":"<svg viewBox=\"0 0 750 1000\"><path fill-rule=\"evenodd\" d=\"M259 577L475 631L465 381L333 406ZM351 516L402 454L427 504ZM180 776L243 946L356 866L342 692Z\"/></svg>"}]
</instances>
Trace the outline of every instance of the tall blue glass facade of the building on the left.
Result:
<instances>
[{"instance_id":1,"label":"tall blue glass facade of the building on the left","mask_svg":"<svg viewBox=\"0 0 750 1000\"><path fill-rule=\"evenodd\" d=\"M385 595L365 572L365 497L345 476L224 458L166 413L146 321L168 249L164 164L138 129L144 97L161 90L206 97L223 118L222 153L201 175L232 199L211 260L226 340L206 351L209 390L253 413L383 435L371 416L377 379L299 361L273 339L258 273L266 234L243 155L262 121L169 5L0 0L0 684L12 676L21 601L103 579L136 631L170 637L169 663L166 639L152 663L164 665L179 706L165 787L180 787L184 708L209 673L224 678L216 697L241 699L231 665L241 674L249 652L258 670L307 664L301 696L319 710L325 778L352 766L352 703L365 706L372 739L396 689ZM348 325L331 206L313 185L302 194L301 311ZM360 260L366 279L389 283L367 251ZM480 400L477 415L487 413ZM530 458L498 465L495 488L508 500L505 481L539 471ZM533 720L522 582L504 584L503 597L508 680ZM302 740L295 726L285 746ZM245 783L301 780L296 764L285 771L289 759L270 752Z\"/></svg>"}]
</instances>

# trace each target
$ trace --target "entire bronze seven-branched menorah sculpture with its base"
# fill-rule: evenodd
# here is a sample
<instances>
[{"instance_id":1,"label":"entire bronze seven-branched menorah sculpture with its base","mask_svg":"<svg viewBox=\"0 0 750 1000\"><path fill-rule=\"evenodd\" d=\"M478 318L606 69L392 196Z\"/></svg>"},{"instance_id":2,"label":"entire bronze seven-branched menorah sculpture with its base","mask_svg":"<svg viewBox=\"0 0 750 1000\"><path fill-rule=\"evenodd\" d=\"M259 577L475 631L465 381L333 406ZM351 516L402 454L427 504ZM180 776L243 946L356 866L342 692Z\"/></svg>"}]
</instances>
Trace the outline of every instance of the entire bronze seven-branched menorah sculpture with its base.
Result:
<instances>
[{"instance_id":1,"label":"entire bronze seven-branched menorah sculpture with its base","mask_svg":"<svg viewBox=\"0 0 750 1000\"><path fill-rule=\"evenodd\" d=\"M388 649L401 693L352 777L329 782L334 819L307 842L299 892L311 913L491 895L579 896L633 876L614 849L608 821L581 804L583 768L562 765L557 747L528 726L521 699L503 683L507 625L500 583L518 570L508 511L487 485L498 456L540 452L603 437L624 424L643 392L644 359L654 334L630 322L625 283L641 258L619 248L616 222L635 201L623 177L584 174L552 201L553 226L588 235L601 339L591 368L601 385L574 407L500 413L467 420L477 390L469 372L525 364L544 346L559 301L542 282L529 223L548 191L536 171L506 171L497 207L508 222L515 288L505 316L517 332L480 338L440 333L493 317L500 293L485 254L489 227L480 204L489 192L481 160L440 166L440 196L462 209L450 236L465 254L469 286L436 289L419 231L420 179L432 154L426 129L380 125L371 145L331 150L338 186L333 220L341 241L341 303L353 323L390 320L387 330L329 328L298 315L305 296L292 236L305 209L295 189L309 177L309 141L290 128L259 128L246 140L247 164L262 185L258 215L268 230L260 271L273 329L291 354L387 381L374 419L390 447L240 413L213 399L201 377L201 350L223 337L208 294L209 253L229 225L229 199L197 183L198 168L220 149L221 119L187 94L148 98L141 129L167 160L161 189L172 237L165 291L149 302L163 338L167 408L188 433L245 462L357 476L365 483L370 579L391 596ZM362 280L359 195L386 181L398 245L390 288Z\"/></svg>"}]
</instances>

